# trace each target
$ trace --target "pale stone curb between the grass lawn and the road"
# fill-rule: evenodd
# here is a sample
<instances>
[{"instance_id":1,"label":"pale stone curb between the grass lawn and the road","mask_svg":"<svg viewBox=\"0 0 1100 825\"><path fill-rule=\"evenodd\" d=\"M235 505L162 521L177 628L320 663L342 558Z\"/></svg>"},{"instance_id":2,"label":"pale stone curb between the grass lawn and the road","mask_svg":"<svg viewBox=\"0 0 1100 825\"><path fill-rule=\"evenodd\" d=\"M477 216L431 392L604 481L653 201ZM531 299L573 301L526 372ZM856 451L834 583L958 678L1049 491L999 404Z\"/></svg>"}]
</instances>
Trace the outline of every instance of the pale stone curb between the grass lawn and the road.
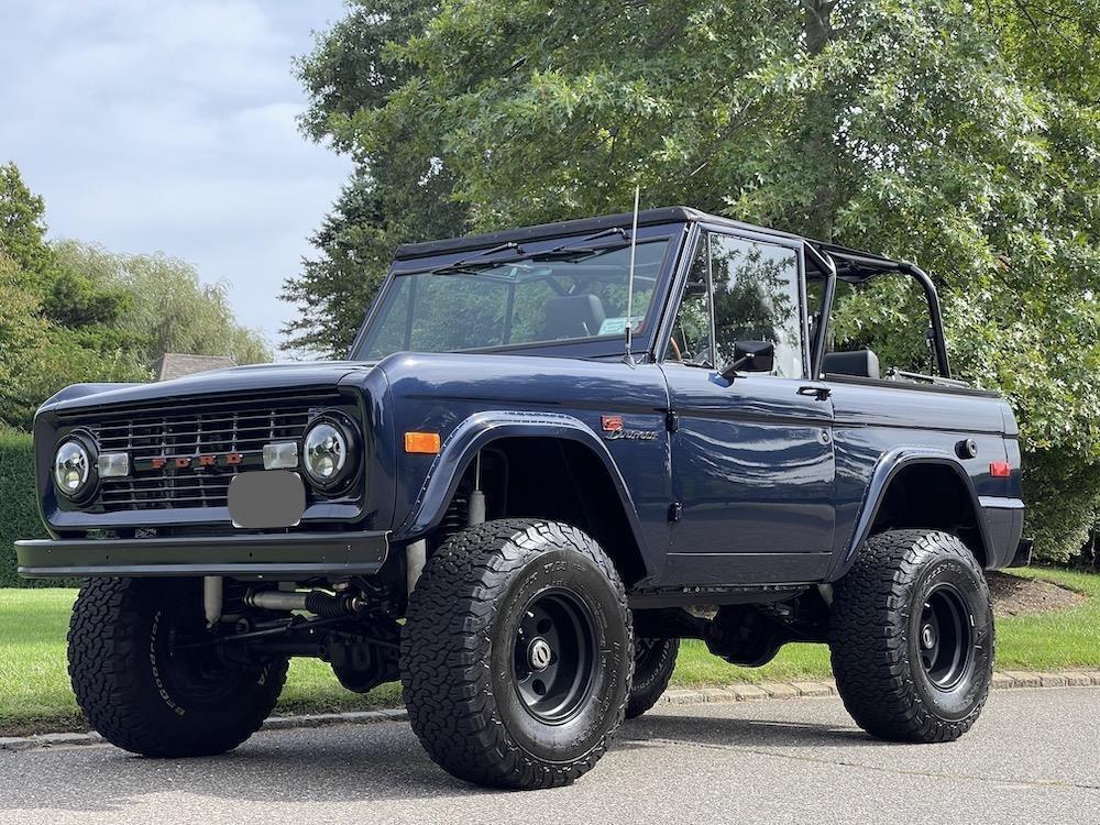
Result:
<instances>
[{"instance_id":1,"label":"pale stone curb between the grass lawn and the road","mask_svg":"<svg viewBox=\"0 0 1100 825\"><path fill-rule=\"evenodd\" d=\"M1059 670L1038 673L1023 670L1005 670L993 673L993 690L1021 688L1100 688L1100 670ZM810 698L835 696L836 682L832 679L796 682L760 682L759 684L730 684L724 688L700 688L696 690L666 691L658 704L697 705L750 702L762 700ZM383 722L406 722L408 713L404 708L381 711L351 711L348 713L318 713L299 716L272 716L264 723L264 730L288 730L293 728L327 727L329 725L376 725ZM0 737L0 751L36 750L44 748L70 748L87 745L102 745L103 737L95 730L84 734L35 734L34 736Z\"/></svg>"}]
</instances>

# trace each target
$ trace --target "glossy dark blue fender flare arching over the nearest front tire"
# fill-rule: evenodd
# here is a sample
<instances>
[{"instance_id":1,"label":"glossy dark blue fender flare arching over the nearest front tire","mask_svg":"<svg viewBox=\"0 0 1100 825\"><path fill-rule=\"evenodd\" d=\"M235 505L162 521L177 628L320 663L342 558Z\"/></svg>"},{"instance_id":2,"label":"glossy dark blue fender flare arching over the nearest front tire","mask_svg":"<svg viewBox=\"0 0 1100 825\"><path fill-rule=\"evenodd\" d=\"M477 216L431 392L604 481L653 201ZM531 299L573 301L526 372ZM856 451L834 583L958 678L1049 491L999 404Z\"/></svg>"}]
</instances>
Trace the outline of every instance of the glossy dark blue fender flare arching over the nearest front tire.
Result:
<instances>
[{"instance_id":1,"label":"glossy dark blue fender flare arching over the nearest front tire","mask_svg":"<svg viewBox=\"0 0 1100 825\"><path fill-rule=\"evenodd\" d=\"M584 444L603 462L622 505L642 560L646 542L630 491L607 446L591 427L560 413L488 410L461 421L440 446L409 515L395 531L397 540L413 540L438 527L459 486L462 473L487 444L504 438L556 438Z\"/></svg>"}]
</instances>

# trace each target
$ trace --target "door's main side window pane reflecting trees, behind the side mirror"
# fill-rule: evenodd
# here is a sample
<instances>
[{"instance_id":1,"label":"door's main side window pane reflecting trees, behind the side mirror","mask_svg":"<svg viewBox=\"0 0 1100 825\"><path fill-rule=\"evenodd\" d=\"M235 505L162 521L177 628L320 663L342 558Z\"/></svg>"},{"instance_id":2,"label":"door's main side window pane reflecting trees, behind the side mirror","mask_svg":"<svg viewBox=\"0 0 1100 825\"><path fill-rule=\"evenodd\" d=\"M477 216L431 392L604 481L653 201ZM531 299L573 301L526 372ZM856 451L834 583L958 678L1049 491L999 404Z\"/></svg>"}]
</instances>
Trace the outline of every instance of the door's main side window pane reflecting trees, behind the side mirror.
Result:
<instances>
[{"instance_id":1,"label":"door's main side window pane reflecting trees, behind the side mirror","mask_svg":"<svg viewBox=\"0 0 1100 825\"><path fill-rule=\"evenodd\" d=\"M735 360L738 341L770 341L776 345L772 374L802 377L798 253L785 246L715 234L711 237L711 272L718 369Z\"/></svg>"}]
</instances>

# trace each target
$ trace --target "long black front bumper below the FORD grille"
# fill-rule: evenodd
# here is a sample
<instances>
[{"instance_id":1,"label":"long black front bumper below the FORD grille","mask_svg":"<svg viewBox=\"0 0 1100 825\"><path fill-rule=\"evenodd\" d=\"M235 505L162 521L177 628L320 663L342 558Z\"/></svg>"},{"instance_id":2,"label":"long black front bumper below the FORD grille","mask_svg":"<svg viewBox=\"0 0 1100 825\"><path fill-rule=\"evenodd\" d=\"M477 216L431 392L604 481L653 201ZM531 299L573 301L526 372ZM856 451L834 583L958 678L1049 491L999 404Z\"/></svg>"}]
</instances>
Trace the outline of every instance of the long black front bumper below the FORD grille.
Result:
<instances>
[{"instance_id":1,"label":"long black front bumper below the FORD grille","mask_svg":"<svg viewBox=\"0 0 1100 825\"><path fill-rule=\"evenodd\" d=\"M24 579L226 575L254 579L372 575L388 532L298 532L15 542Z\"/></svg>"}]
</instances>

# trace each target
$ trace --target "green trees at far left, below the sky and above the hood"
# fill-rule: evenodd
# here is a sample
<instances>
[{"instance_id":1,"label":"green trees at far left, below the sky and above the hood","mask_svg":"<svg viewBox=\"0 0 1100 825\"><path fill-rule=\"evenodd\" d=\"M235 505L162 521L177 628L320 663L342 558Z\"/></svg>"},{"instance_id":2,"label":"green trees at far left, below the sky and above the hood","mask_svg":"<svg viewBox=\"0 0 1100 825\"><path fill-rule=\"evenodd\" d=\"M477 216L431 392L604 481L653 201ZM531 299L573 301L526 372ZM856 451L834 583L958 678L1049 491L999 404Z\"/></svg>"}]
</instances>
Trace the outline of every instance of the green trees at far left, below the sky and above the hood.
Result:
<instances>
[{"instance_id":1,"label":"green trees at far left, below the sky and above the hood","mask_svg":"<svg viewBox=\"0 0 1100 825\"><path fill-rule=\"evenodd\" d=\"M162 255L112 255L45 240L42 198L0 166L0 427L26 429L68 384L148 381L166 351L270 361L221 286Z\"/></svg>"}]
</instances>

